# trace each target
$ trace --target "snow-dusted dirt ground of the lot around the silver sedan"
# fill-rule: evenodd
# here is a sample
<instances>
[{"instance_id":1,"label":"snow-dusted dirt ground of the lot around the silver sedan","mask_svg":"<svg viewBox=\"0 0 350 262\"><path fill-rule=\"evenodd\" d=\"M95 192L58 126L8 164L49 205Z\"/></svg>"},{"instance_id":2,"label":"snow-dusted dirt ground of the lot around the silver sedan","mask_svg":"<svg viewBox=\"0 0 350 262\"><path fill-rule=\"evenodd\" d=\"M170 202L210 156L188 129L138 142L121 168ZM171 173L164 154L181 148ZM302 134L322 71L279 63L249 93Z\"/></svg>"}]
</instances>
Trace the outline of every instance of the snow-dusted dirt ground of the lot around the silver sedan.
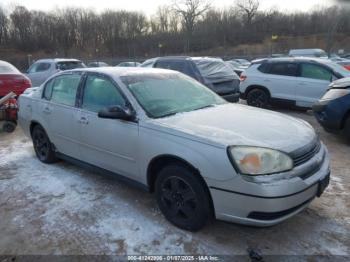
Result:
<instances>
[{"instance_id":1,"label":"snow-dusted dirt ground of the lot around the silver sedan","mask_svg":"<svg viewBox=\"0 0 350 262\"><path fill-rule=\"evenodd\" d=\"M63 161L44 165L20 128L0 133L0 254L349 255L350 145L325 133L311 112L279 111L314 126L332 177L322 198L270 228L215 221L182 231L151 194Z\"/></svg>"}]
</instances>

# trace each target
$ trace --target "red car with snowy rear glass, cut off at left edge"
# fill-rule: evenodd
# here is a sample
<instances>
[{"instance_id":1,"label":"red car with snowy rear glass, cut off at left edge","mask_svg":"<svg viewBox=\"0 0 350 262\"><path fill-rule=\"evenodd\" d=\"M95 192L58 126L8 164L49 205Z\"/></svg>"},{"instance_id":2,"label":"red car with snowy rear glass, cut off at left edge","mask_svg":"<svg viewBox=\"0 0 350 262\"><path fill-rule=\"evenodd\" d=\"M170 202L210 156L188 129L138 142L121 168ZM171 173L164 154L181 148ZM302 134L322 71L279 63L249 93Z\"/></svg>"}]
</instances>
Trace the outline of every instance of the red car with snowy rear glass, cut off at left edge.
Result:
<instances>
[{"instance_id":1,"label":"red car with snowy rear glass, cut off at left edge","mask_svg":"<svg viewBox=\"0 0 350 262\"><path fill-rule=\"evenodd\" d=\"M31 86L32 83L28 77L10 63L0 60L0 98L11 91L19 96Z\"/></svg>"}]
</instances>

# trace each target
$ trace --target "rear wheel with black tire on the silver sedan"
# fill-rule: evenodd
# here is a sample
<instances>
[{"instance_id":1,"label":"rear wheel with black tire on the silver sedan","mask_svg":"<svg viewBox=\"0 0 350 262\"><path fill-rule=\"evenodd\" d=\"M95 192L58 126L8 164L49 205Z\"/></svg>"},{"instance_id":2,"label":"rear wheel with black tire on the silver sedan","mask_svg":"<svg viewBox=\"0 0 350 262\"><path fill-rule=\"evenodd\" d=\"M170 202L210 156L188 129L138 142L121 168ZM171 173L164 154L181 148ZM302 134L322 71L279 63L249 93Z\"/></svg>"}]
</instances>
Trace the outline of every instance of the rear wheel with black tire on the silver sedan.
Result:
<instances>
[{"instance_id":1,"label":"rear wheel with black tire on the silver sedan","mask_svg":"<svg viewBox=\"0 0 350 262\"><path fill-rule=\"evenodd\" d=\"M33 146L38 159L46 164L56 162L55 152L45 130L37 125L32 132Z\"/></svg>"}]
</instances>

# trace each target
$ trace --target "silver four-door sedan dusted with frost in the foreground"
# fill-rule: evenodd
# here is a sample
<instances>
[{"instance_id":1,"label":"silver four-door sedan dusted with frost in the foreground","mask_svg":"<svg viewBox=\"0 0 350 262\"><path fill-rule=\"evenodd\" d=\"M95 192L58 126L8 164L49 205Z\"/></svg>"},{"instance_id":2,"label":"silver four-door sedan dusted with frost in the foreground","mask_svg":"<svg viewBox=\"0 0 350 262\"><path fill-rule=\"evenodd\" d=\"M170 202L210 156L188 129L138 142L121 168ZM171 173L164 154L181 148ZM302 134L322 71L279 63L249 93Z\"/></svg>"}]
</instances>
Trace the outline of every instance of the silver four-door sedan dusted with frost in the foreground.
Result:
<instances>
[{"instance_id":1,"label":"silver four-door sedan dusted with frost in the foreground","mask_svg":"<svg viewBox=\"0 0 350 262\"><path fill-rule=\"evenodd\" d=\"M327 149L309 124L227 103L175 71L66 71L19 104L40 161L69 160L155 192L182 229L213 218L271 226L329 184Z\"/></svg>"}]
</instances>

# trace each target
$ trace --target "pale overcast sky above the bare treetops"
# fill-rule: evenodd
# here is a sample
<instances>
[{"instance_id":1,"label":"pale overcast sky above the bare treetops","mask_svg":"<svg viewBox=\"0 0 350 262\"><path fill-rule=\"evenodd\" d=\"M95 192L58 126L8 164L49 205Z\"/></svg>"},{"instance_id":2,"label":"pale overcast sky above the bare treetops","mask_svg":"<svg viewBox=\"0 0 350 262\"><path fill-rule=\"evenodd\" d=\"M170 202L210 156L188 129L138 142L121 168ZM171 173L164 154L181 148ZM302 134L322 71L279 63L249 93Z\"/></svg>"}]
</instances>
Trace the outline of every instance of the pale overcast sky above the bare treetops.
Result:
<instances>
[{"instance_id":1,"label":"pale overcast sky above the bare treetops","mask_svg":"<svg viewBox=\"0 0 350 262\"><path fill-rule=\"evenodd\" d=\"M342 0L347 2L347 0ZM213 6L223 8L234 0L211 0ZM260 0L261 9L277 7L281 11L307 11L314 6L339 4L336 0ZM102 11L105 9L125 9L143 11L150 15L158 6L171 4L171 0L1 0L0 5L11 9L14 5L24 5L28 9L51 10L55 7L79 6Z\"/></svg>"}]
</instances>

